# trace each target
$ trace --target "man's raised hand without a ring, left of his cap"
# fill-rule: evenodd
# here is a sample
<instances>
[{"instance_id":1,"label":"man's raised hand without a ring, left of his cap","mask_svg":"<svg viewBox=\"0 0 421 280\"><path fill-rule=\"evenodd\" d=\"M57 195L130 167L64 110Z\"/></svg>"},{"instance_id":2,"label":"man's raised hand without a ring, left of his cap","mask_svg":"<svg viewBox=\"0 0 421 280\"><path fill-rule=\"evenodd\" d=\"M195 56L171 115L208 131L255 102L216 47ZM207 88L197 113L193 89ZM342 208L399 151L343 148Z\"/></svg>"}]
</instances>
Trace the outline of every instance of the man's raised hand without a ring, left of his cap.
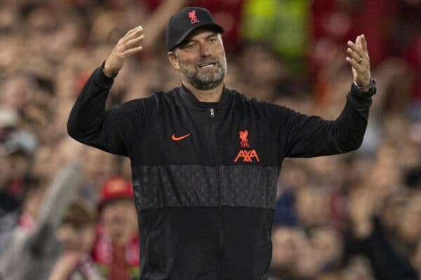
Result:
<instances>
[{"instance_id":1,"label":"man's raised hand without a ring, left of his cap","mask_svg":"<svg viewBox=\"0 0 421 280\"><path fill-rule=\"evenodd\" d=\"M105 60L105 76L112 77L113 74L119 73L126 58L133 55L133 53L142 50L143 47L140 43L142 43L144 38L143 27L138 26L129 30L126 35L119 40L113 48L111 55Z\"/></svg>"}]
</instances>

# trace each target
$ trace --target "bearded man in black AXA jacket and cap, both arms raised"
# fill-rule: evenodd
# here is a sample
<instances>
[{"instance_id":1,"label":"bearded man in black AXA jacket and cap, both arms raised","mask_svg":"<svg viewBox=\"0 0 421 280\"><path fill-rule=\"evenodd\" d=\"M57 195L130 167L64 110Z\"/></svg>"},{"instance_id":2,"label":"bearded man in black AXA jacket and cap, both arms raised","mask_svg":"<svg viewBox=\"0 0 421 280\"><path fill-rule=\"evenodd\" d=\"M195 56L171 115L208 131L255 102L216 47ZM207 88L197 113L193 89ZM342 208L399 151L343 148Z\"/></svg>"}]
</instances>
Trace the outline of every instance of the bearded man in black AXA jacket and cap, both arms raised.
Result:
<instances>
[{"instance_id":1,"label":"bearded man in black AXA jacket and cap, both arms raised","mask_svg":"<svg viewBox=\"0 0 421 280\"><path fill-rule=\"evenodd\" d=\"M223 31L203 8L173 15L168 59L182 86L105 110L114 76L142 50L142 27L128 31L70 113L74 139L131 159L140 279L267 279L283 158L345 153L363 140L375 94L364 36L349 41L354 84L327 121L227 89Z\"/></svg>"}]
</instances>

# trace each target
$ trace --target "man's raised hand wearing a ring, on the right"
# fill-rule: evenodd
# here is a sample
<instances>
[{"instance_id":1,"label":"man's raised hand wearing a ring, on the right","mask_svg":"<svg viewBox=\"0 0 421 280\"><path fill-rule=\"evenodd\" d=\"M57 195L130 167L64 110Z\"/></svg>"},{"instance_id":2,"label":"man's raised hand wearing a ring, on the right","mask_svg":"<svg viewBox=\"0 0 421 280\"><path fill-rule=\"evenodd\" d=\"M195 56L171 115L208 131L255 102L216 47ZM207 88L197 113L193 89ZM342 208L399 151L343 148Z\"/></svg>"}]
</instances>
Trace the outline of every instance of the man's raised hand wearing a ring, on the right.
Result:
<instances>
[{"instance_id":1,"label":"man's raised hand wearing a ring, on the right","mask_svg":"<svg viewBox=\"0 0 421 280\"><path fill-rule=\"evenodd\" d=\"M370 86L370 57L368 57L367 42L364 35L356 37L355 43L348 41L347 62L352 66L354 83L360 90L368 91Z\"/></svg>"}]
</instances>

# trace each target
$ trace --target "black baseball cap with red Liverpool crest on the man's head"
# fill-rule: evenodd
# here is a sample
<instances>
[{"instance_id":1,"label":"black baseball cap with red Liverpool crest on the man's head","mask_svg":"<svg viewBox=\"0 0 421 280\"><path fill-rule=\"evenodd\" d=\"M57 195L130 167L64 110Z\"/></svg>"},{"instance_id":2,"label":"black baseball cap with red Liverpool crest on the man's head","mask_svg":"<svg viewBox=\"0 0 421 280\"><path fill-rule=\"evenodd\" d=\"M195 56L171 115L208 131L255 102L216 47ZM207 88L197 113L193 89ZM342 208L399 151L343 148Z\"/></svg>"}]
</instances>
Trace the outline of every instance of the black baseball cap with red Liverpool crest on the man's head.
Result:
<instances>
[{"instance_id":1,"label":"black baseball cap with red Liverpool crest on the man's head","mask_svg":"<svg viewBox=\"0 0 421 280\"><path fill-rule=\"evenodd\" d=\"M199 27L224 33L224 29L215 22L212 14L206 8L187 7L173 15L166 29L168 50L173 50L177 45Z\"/></svg>"}]
</instances>

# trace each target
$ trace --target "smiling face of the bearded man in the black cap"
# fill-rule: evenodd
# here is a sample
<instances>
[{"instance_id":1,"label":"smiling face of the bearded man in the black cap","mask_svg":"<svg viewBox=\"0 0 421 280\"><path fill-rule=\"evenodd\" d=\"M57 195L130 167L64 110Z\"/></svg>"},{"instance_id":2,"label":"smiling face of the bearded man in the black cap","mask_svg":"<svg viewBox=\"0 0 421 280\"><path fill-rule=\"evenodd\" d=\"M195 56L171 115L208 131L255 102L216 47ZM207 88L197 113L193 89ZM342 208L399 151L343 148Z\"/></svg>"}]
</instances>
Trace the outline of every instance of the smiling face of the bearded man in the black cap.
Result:
<instances>
[{"instance_id":1,"label":"smiling face of the bearded man in the black cap","mask_svg":"<svg viewBox=\"0 0 421 280\"><path fill-rule=\"evenodd\" d=\"M168 54L182 80L198 90L211 90L222 83L227 73L227 59L220 34L199 30ZM173 57L173 59L171 59Z\"/></svg>"}]
</instances>

